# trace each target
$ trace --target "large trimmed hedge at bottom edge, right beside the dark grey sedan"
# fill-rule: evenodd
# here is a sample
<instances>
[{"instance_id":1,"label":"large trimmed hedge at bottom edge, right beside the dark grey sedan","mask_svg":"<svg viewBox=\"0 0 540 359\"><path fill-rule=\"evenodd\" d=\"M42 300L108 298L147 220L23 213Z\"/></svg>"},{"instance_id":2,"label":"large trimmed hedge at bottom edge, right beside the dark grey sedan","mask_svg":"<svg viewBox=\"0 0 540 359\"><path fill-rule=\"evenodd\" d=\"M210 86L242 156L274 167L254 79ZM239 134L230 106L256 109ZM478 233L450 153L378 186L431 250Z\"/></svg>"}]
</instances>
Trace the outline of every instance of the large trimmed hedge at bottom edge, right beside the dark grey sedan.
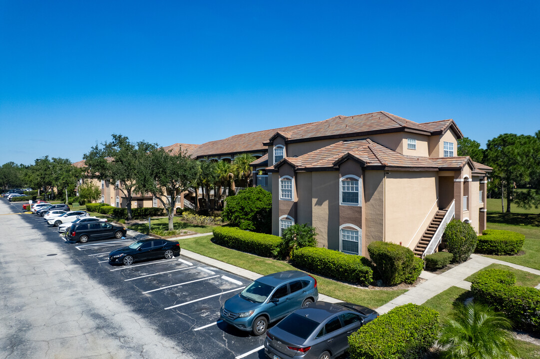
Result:
<instances>
[{"instance_id":1,"label":"large trimmed hedge at bottom edge, right beside the dark grey sedan","mask_svg":"<svg viewBox=\"0 0 540 359\"><path fill-rule=\"evenodd\" d=\"M349 336L350 359L420 359L437 339L438 316L416 304L396 307Z\"/></svg>"}]
</instances>

